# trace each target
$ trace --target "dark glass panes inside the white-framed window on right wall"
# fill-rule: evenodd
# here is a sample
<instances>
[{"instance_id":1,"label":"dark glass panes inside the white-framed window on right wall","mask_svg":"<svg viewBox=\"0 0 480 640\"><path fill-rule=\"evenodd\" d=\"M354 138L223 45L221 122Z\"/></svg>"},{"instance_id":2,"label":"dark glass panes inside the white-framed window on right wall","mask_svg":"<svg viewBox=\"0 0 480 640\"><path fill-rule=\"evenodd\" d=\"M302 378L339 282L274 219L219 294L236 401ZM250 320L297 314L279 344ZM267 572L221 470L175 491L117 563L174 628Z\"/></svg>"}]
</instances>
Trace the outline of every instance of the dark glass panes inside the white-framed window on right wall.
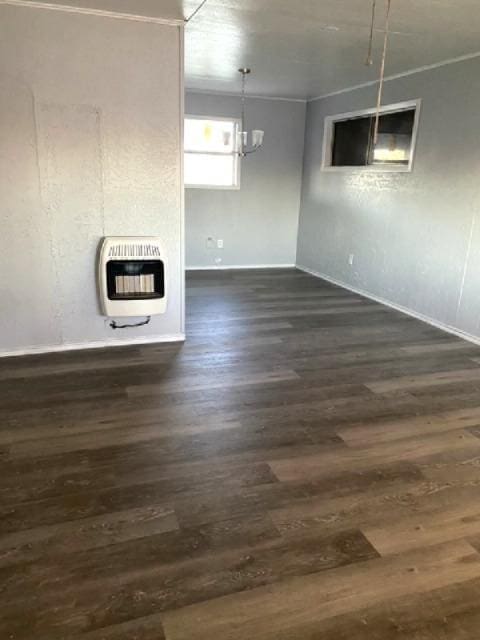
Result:
<instances>
[{"instance_id":1,"label":"dark glass panes inside the white-framed window on right wall","mask_svg":"<svg viewBox=\"0 0 480 640\"><path fill-rule=\"evenodd\" d=\"M415 109L380 116L373 144L375 115L341 120L333 125L332 166L408 166L412 151Z\"/></svg>"}]
</instances>

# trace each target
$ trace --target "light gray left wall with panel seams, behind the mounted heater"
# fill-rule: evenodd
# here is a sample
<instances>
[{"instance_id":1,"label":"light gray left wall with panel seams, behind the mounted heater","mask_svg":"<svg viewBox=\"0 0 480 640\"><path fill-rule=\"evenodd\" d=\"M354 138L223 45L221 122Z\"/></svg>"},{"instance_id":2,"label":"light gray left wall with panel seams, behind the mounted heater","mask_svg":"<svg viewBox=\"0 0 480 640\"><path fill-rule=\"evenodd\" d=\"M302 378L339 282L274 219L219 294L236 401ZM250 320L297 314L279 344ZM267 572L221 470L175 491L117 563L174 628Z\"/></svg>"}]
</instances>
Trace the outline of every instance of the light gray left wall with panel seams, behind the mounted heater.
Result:
<instances>
[{"instance_id":1,"label":"light gray left wall with panel seams, behind the mounted heater","mask_svg":"<svg viewBox=\"0 0 480 640\"><path fill-rule=\"evenodd\" d=\"M0 354L182 333L180 47L176 27L0 6ZM113 332L99 242L157 234L168 311Z\"/></svg>"}]
</instances>

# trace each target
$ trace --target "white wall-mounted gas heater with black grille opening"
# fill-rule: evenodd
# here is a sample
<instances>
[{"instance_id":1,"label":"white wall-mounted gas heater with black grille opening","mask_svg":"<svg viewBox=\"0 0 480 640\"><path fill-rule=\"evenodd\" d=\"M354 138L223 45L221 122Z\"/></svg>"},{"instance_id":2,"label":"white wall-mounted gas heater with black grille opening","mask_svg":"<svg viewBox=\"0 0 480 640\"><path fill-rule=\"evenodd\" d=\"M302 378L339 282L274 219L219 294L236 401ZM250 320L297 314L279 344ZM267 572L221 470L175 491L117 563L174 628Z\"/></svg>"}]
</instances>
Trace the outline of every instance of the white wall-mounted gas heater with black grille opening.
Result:
<instances>
[{"instance_id":1,"label":"white wall-mounted gas heater with black grille opening","mask_svg":"<svg viewBox=\"0 0 480 640\"><path fill-rule=\"evenodd\" d=\"M98 277L104 315L139 317L165 313L166 259L159 238L105 238Z\"/></svg>"}]
</instances>

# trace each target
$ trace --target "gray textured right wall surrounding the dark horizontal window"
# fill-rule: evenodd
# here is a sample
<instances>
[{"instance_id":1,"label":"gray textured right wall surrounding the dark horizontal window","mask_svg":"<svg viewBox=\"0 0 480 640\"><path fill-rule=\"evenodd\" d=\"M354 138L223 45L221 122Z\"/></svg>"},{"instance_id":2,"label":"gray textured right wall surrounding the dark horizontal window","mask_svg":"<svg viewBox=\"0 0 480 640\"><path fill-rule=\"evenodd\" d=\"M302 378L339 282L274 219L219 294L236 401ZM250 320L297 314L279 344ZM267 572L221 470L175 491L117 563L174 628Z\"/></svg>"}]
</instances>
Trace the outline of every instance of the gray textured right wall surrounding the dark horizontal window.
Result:
<instances>
[{"instance_id":1,"label":"gray textured right wall surrounding the dark horizontal window","mask_svg":"<svg viewBox=\"0 0 480 640\"><path fill-rule=\"evenodd\" d=\"M480 337L480 61L385 85L384 104L415 98L401 174L320 170L325 116L372 107L374 87L309 104L297 263Z\"/></svg>"}]
</instances>

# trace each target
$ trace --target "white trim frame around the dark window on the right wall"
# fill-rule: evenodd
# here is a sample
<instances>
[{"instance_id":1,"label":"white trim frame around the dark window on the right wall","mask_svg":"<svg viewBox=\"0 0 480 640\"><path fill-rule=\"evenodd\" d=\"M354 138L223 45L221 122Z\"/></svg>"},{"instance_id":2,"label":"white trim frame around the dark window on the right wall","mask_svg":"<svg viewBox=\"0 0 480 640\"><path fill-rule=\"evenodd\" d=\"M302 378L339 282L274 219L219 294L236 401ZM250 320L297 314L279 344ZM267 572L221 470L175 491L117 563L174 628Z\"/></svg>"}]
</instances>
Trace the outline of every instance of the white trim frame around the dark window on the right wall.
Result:
<instances>
[{"instance_id":1,"label":"white trim frame around the dark window on the right wall","mask_svg":"<svg viewBox=\"0 0 480 640\"><path fill-rule=\"evenodd\" d=\"M323 129L323 150L322 150L322 171L327 172L349 172L358 173L368 171L370 173L411 173L413 171L413 165L415 161L415 150L417 146L417 134L418 125L420 122L420 110L422 100L418 98L416 100L406 100L404 102L396 102L394 104L388 104L380 108L380 114L385 113L398 113L399 111L409 111L415 109L415 119L412 129L412 147L410 153L410 161L408 165L378 165L370 164L360 167L338 167L332 166L332 154L333 154L333 132L334 124L336 122L342 122L343 120L352 120L353 118L359 118L362 116L374 115L377 110L375 107L369 109L360 109L358 111L349 111L348 113L339 113L332 116L326 116Z\"/></svg>"}]
</instances>

